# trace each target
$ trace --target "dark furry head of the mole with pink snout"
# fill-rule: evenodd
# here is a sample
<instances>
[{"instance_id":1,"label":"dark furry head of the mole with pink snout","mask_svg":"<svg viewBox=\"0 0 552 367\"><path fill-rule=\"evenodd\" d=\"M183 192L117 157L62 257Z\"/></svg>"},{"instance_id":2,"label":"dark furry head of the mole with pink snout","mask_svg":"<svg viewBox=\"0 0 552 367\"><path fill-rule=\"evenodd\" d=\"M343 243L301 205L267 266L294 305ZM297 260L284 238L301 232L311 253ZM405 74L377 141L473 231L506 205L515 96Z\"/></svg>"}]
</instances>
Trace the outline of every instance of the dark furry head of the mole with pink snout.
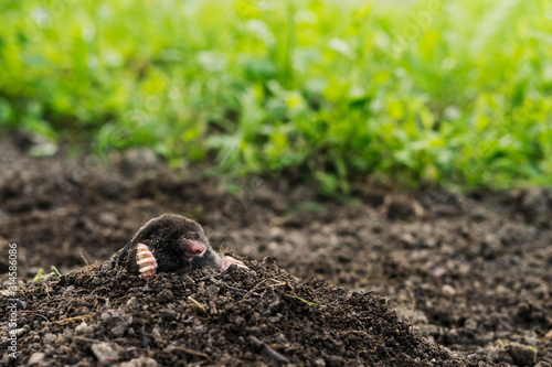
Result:
<instances>
[{"instance_id":1,"label":"dark furry head of the mole with pink snout","mask_svg":"<svg viewBox=\"0 0 552 367\"><path fill-rule=\"evenodd\" d=\"M163 214L149 220L134 238L135 244L146 244L158 252L191 260L209 247L203 228L192 219L177 214Z\"/></svg>"}]
</instances>

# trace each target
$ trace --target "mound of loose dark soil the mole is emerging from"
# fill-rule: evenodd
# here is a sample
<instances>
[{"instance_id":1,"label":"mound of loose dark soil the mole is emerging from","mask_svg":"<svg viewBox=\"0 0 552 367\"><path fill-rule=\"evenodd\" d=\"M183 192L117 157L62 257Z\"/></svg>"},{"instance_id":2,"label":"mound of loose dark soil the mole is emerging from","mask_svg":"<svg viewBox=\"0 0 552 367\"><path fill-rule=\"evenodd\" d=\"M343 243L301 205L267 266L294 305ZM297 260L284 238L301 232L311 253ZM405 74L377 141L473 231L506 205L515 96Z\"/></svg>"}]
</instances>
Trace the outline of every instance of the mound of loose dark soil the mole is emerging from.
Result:
<instances>
[{"instance_id":1,"label":"mound of loose dark soil the mole is emerging from","mask_svg":"<svg viewBox=\"0 0 552 367\"><path fill-rule=\"evenodd\" d=\"M21 290L21 360L42 366L477 366L412 333L386 301L269 259L145 281L92 266ZM148 359L149 358L149 359ZM6 358L4 358L6 359ZM8 361L8 360L4 360Z\"/></svg>"}]
</instances>

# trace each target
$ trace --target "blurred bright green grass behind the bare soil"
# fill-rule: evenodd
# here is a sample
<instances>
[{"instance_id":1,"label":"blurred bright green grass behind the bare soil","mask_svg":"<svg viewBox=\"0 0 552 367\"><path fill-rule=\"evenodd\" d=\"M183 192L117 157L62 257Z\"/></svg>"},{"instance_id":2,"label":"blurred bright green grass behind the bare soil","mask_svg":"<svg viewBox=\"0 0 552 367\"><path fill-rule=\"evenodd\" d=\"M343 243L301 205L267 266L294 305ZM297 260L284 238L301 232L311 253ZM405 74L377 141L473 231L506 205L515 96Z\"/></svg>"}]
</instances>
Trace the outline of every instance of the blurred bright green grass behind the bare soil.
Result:
<instances>
[{"instance_id":1,"label":"blurred bright green grass behind the bare soil","mask_svg":"<svg viewBox=\"0 0 552 367\"><path fill-rule=\"evenodd\" d=\"M381 3L6 0L0 127L328 194L550 184L552 3Z\"/></svg>"}]
</instances>

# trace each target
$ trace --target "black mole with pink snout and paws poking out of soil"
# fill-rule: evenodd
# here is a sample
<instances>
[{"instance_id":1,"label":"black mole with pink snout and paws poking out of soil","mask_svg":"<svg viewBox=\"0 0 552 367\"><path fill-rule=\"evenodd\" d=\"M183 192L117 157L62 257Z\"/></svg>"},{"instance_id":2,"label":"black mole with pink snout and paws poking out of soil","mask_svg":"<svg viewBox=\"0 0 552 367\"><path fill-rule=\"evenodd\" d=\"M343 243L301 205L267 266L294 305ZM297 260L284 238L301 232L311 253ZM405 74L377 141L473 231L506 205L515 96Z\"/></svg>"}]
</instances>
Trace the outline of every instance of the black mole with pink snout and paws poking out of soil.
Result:
<instances>
[{"instance_id":1,"label":"black mole with pink snout and paws poking out of soil","mask_svg":"<svg viewBox=\"0 0 552 367\"><path fill-rule=\"evenodd\" d=\"M248 269L242 261L230 256L219 256L195 220L171 213L146 223L119 251L116 267L119 260L130 273L145 279L157 272L176 272L205 266L221 272L232 265Z\"/></svg>"}]
</instances>

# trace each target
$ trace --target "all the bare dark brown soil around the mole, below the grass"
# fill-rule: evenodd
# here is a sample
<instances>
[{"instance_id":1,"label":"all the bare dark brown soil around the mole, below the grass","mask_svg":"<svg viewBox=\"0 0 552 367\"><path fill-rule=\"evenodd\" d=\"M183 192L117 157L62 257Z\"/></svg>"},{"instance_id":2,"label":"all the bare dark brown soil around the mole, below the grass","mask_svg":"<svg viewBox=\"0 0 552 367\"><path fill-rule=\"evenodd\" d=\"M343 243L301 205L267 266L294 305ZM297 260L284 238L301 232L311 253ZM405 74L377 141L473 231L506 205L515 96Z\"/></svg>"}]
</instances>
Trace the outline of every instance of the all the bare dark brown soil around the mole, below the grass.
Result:
<instances>
[{"instance_id":1,"label":"all the bare dark brown soil around the mole, below the grass","mask_svg":"<svg viewBox=\"0 0 552 367\"><path fill-rule=\"evenodd\" d=\"M8 244L20 281L18 359L0 365L552 363L549 188L463 196L358 183L358 201L339 205L291 180L171 171L148 151L106 165L26 148L0 139L2 315ZM168 212L198 220L250 271L145 281L114 270L113 253ZM46 279L33 282L40 268ZM8 316L0 327L8 352Z\"/></svg>"}]
</instances>

